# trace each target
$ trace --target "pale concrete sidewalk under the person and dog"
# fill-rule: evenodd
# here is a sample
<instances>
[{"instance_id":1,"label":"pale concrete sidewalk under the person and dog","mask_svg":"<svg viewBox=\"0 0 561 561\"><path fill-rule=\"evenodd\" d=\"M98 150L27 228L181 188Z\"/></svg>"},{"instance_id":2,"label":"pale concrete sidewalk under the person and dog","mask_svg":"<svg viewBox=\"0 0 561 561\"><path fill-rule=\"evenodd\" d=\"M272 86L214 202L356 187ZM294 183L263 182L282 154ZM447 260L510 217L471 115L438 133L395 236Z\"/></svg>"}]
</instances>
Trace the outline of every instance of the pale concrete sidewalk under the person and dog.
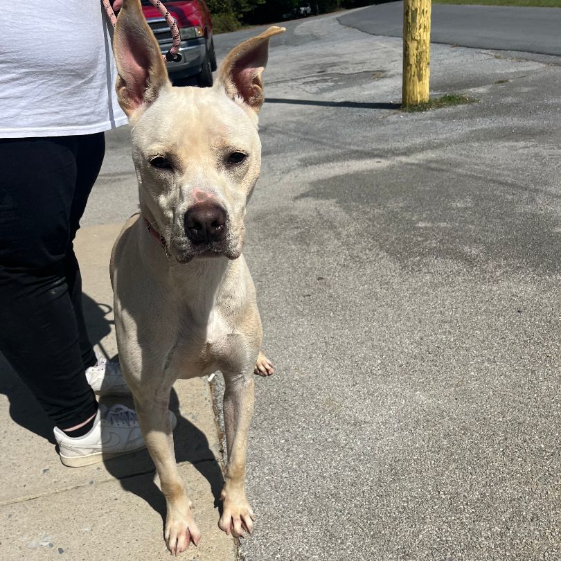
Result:
<instances>
[{"instance_id":1,"label":"pale concrete sidewalk under the person and dog","mask_svg":"<svg viewBox=\"0 0 561 561\"><path fill-rule=\"evenodd\" d=\"M89 226L80 230L75 244L90 336L108 357L116 355L109 254L120 228ZM162 530L166 504L148 452L64 467L55 452L51 421L0 360L0 558L167 559ZM181 558L234 560L235 543L217 526L214 505L222 470L206 379L177 382L170 407L179 421L174 433L179 470L203 533L199 546L191 546Z\"/></svg>"}]
</instances>

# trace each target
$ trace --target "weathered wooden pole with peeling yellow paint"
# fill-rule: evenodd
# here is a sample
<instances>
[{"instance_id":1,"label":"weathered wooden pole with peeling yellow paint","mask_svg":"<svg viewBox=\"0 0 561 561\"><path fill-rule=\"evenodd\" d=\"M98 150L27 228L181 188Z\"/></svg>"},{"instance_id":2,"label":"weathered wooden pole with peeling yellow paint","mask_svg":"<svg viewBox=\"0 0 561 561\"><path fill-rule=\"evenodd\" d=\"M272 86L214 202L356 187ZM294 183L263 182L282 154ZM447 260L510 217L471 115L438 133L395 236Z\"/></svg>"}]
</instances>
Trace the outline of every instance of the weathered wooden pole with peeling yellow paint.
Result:
<instances>
[{"instance_id":1,"label":"weathered wooden pole with peeling yellow paint","mask_svg":"<svg viewBox=\"0 0 561 561\"><path fill-rule=\"evenodd\" d=\"M402 105L429 100L431 0L403 1Z\"/></svg>"}]
</instances>

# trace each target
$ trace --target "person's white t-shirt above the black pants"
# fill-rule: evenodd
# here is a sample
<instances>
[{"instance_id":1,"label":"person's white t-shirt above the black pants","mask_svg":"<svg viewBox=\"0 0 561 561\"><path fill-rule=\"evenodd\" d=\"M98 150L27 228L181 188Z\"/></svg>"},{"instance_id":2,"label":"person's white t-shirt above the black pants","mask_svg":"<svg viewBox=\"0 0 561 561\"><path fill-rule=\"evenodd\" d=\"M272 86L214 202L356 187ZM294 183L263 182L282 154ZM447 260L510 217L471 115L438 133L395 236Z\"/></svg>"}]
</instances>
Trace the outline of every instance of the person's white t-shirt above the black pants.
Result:
<instances>
[{"instance_id":1,"label":"person's white t-shirt above the black pants","mask_svg":"<svg viewBox=\"0 0 561 561\"><path fill-rule=\"evenodd\" d=\"M100 0L0 0L0 138L127 123Z\"/></svg>"}]
</instances>

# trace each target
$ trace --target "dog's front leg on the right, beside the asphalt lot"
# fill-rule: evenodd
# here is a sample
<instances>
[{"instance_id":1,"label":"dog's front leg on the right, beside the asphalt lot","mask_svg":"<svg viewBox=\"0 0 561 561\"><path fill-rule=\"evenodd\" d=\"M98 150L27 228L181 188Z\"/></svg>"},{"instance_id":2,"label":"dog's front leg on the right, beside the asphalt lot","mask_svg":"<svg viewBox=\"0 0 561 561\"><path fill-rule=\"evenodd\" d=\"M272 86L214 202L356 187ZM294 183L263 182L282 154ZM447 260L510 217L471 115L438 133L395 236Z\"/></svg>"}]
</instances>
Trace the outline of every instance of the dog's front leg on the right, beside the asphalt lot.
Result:
<instances>
[{"instance_id":1,"label":"dog's front leg on the right, beside the asphalt lot","mask_svg":"<svg viewBox=\"0 0 561 561\"><path fill-rule=\"evenodd\" d=\"M245 496L247 434L253 414L254 386L251 372L224 373L224 428L228 463L222 489L223 511L218 525L226 534L243 535L253 530L253 511Z\"/></svg>"}]
</instances>

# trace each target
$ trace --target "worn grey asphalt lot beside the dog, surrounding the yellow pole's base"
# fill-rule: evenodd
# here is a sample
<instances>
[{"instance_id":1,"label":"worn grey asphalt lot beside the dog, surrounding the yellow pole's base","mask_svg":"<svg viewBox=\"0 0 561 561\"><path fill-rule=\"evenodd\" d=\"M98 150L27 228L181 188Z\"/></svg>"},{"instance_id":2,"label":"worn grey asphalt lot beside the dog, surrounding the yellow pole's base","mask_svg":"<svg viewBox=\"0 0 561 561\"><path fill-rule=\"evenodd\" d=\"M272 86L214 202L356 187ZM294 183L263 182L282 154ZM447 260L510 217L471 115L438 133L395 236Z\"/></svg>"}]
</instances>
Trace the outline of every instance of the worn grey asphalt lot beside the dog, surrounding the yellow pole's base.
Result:
<instances>
[{"instance_id":1,"label":"worn grey asphalt lot beside the dog, surrounding the yellow pole's base","mask_svg":"<svg viewBox=\"0 0 561 561\"><path fill-rule=\"evenodd\" d=\"M337 17L265 71L242 558L558 559L561 60L436 44L433 94L479 102L402 113L400 39ZM136 202L107 138L90 223Z\"/></svg>"}]
</instances>

